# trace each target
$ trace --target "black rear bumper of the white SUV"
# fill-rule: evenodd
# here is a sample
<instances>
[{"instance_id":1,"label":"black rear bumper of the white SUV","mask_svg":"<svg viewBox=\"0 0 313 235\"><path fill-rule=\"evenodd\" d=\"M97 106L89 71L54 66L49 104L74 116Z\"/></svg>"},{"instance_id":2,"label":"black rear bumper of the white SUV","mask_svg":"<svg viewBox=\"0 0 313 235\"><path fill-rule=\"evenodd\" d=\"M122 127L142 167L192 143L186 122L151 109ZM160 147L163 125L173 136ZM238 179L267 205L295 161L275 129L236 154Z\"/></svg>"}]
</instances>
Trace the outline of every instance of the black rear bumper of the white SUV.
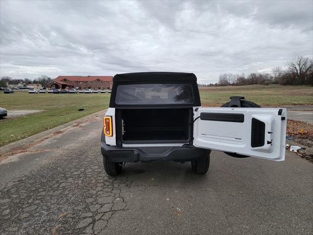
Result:
<instances>
[{"instance_id":1,"label":"black rear bumper of the white SUV","mask_svg":"<svg viewBox=\"0 0 313 235\"><path fill-rule=\"evenodd\" d=\"M186 146L126 148L110 146L105 142L101 142L102 155L107 156L109 161L113 163L134 163L151 160L194 161L208 155L210 151Z\"/></svg>"}]
</instances>

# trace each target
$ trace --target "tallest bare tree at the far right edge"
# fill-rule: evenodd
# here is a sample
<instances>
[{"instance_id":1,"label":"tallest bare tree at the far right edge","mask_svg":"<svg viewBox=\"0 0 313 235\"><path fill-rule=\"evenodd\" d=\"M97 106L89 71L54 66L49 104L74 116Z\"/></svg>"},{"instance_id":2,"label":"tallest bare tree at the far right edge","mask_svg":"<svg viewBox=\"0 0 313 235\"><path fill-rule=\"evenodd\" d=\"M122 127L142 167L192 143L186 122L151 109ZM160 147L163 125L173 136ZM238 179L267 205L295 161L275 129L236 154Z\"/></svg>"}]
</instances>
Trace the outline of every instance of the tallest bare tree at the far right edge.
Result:
<instances>
[{"instance_id":1,"label":"tallest bare tree at the far right edge","mask_svg":"<svg viewBox=\"0 0 313 235\"><path fill-rule=\"evenodd\" d=\"M298 56L287 62L288 71L296 78L296 85L308 84L311 80L309 77L313 70L313 60L307 57Z\"/></svg>"}]
</instances>

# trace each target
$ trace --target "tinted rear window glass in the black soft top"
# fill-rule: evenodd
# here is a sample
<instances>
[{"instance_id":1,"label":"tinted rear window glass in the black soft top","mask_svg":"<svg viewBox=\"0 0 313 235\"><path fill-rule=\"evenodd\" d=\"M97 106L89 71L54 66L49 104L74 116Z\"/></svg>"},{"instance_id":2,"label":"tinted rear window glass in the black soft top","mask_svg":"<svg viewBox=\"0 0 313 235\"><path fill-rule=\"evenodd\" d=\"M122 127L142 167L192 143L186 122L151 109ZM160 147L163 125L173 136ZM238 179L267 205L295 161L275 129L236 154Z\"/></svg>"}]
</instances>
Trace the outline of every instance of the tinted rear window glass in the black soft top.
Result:
<instances>
[{"instance_id":1,"label":"tinted rear window glass in the black soft top","mask_svg":"<svg viewBox=\"0 0 313 235\"><path fill-rule=\"evenodd\" d=\"M190 84L132 84L117 86L116 104L191 104Z\"/></svg>"}]
</instances>

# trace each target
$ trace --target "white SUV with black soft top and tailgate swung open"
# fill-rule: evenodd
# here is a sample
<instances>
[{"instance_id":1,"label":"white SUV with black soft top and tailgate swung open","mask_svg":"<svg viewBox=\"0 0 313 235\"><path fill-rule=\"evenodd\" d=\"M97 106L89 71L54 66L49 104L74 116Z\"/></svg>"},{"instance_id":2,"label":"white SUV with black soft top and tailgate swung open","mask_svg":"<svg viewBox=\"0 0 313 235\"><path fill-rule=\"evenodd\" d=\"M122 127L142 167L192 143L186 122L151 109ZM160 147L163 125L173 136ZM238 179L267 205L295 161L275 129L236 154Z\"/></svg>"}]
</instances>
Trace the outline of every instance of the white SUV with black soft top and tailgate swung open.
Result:
<instances>
[{"instance_id":1,"label":"white SUV with black soft top and tailgate swung open","mask_svg":"<svg viewBox=\"0 0 313 235\"><path fill-rule=\"evenodd\" d=\"M201 107L193 73L117 74L103 118L104 169L115 176L125 163L171 160L205 174L211 150L283 161L286 123L286 109L260 108L241 96Z\"/></svg>"}]
</instances>

